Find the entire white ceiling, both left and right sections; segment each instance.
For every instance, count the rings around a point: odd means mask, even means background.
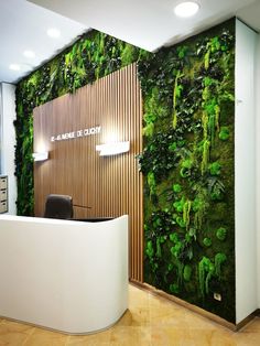
[[[260,31],[260,0],[196,0],[201,10],[191,19],[174,14],[173,8],[181,0],[29,1],[41,7],[25,0],[0,0],[0,82],[15,82],[88,28],[148,51],[176,43],[234,15]],[[61,29],[59,40],[46,36],[50,26]],[[35,51],[34,61],[22,56],[25,48]],[[22,73],[8,71],[15,62],[23,64]]]

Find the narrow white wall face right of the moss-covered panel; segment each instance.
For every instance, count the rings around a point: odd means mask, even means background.
[[[254,52],[257,34],[236,22],[235,210],[236,322],[258,307]]]

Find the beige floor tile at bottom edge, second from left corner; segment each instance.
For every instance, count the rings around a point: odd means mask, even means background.
[[[67,339],[65,334],[35,328],[22,346],[65,346]]]

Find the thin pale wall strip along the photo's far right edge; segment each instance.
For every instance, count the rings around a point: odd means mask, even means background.
[[[256,52],[256,145],[257,145],[257,271],[258,271],[258,307],[260,309],[260,34],[257,39]]]

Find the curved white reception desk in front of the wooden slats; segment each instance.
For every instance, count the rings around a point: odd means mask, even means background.
[[[69,334],[128,309],[128,216],[87,223],[0,216],[0,316]]]

